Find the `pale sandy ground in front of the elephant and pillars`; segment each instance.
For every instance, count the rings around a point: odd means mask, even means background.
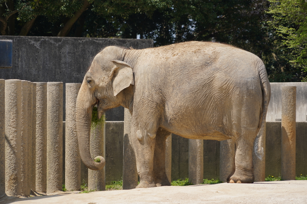
[[[307,180],[162,186],[91,193],[70,193],[32,198],[6,197],[0,203],[14,204],[139,204],[139,203],[307,203]]]

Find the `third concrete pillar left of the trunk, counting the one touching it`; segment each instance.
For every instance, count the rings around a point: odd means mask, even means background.
[[[36,83],[36,191],[47,185],[47,82]]]

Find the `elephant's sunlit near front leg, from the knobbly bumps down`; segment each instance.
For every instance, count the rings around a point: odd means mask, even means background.
[[[155,137],[147,131],[132,128],[132,145],[134,148],[136,166],[140,183],[136,188],[156,187],[153,178],[153,154]],[[154,135],[155,136],[155,135]]]

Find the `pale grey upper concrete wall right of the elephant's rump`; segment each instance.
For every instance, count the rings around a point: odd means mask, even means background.
[[[266,114],[266,121],[282,118],[282,86],[296,86],[296,121],[307,119],[307,82],[270,83],[271,100]]]

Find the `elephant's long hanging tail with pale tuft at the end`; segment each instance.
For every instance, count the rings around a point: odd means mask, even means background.
[[[263,150],[262,142],[260,141],[260,138],[263,134],[265,134],[264,130],[265,130],[265,125],[266,125],[265,124],[266,123],[266,113],[267,113],[267,109],[268,109],[270,98],[271,98],[271,85],[267,77],[266,68],[262,61],[261,63],[258,64],[258,72],[259,72],[260,84],[261,84],[261,90],[262,90],[262,112],[260,113],[260,116],[259,116],[260,120],[259,120],[258,128],[260,129],[259,129],[258,135],[255,138],[254,149],[255,149],[255,155],[260,160],[262,160],[262,157],[264,155],[264,150]]]

